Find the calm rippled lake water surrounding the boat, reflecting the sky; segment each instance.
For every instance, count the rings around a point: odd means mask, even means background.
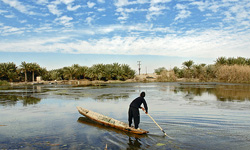
[[[0,88],[0,149],[249,150],[250,85],[126,83]],[[128,134],[96,124],[76,109],[128,122],[128,106],[146,92],[149,114]]]

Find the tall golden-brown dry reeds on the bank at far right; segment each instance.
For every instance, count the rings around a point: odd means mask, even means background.
[[[216,72],[217,79],[231,83],[250,83],[250,66],[220,66]]]

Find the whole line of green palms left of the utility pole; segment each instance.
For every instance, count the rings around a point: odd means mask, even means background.
[[[47,70],[37,63],[26,63],[17,66],[13,62],[0,63],[0,80],[9,82],[31,82],[37,76],[45,81],[53,80],[127,80],[134,78],[135,71],[127,64],[95,64],[91,67],[74,64],[60,69]]]

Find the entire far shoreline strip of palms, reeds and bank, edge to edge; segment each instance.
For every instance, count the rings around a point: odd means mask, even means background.
[[[35,80],[36,79],[36,80]],[[250,84],[250,58],[219,57],[215,64],[195,64],[155,69],[152,74],[136,75],[126,64],[96,64],[91,67],[74,64],[48,71],[37,63],[22,62],[20,66],[0,63],[0,85],[72,84],[77,86],[129,82],[222,82]]]

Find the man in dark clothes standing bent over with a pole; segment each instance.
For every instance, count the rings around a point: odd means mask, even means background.
[[[133,118],[134,118],[135,128],[137,129],[139,127],[139,123],[140,123],[139,108],[141,108],[143,111],[145,110],[146,114],[148,113],[148,106],[147,106],[147,102],[145,101],[144,97],[145,97],[145,92],[141,92],[140,96],[137,97],[136,99],[134,99],[129,105],[128,122],[129,122],[130,127],[131,127]],[[143,103],[145,109],[143,107],[141,107],[142,103]]]

